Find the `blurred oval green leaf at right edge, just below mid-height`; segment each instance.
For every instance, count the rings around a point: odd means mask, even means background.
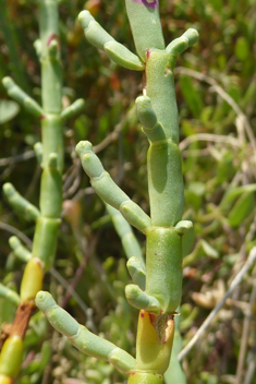
[[[231,227],[239,227],[242,221],[254,211],[254,192],[245,192],[234,204],[229,215]]]

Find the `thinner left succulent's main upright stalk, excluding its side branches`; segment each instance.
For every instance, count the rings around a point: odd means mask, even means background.
[[[0,355],[0,384],[12,383],[20,372],[23,360],[23,339],[29,319],[36,308],[35,297],[42,287],[44,274],[53,264],[62,208],[63,134],[60,118],[62,65],[57,0],[39,1],[39,29],[38,53],[41,63],[44,111],[44,115],[40,116],[42,145],[40,213],[36,218],[32,259],[28,261],[22,278],[21,302],[11,334]],[[10,85],[10,82],[8,84]],[[19,87],[14,89],[12,96],[13,98],[27,99]]]

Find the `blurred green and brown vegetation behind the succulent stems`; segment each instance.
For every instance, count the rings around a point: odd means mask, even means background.
[[[7,4],[0,0],[0,79],[13,76],[39,99],[39,63],[33,47],[38,36],[36,3],[12,0]],[[103,204],[81,170],[74,146],[80,140],[92,141],[113,179],[148,212],[147,140],[134,109],[142,79],[141,73],[110,62],[84,39],[75,21],[83,8],[133,49],[122,0],[60,3],[63,104],[83,97],[86,108],[65,127],[63,221],[56,266],[45,289],[80,323],[134,353],[137,311],[124,299],[129,283],[125,255]],[[184,249],[181,332],[185,345],[256,244],[256,3],[161,0],[160,10],[166,41],[191,26],[200,35],[199,44],[179,58],[175,74],[184,217],[194,221]],[[22,195],[38,204],[40,170],[33,145],[40,137],[39,125],[8,100],[2,85],[0,97],[0,181],[13,182]],[[33,236],[33,227],[1,199],[0,279],[19,289],[23,265],[10,254],[8,243],[14,228],[28,239]],[[144,238],[136,235],[144,247]],[[255,383],[251,374],[256,349],[255,273],[254,268],[235,289],[185,357],[188,383]],[[12,321],[13,312],[1,299],[0,323]],[[108,364],[82,356],[40,313],[33,317],[26,346],[29,352],[17,383],[108,384],[125,380]]]

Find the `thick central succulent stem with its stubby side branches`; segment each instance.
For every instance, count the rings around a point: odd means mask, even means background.
[[[76,153],[96,193],[146,236],[146,266],[137,257],[129,260],[133,284],[125,288],[127,301],[139,310],[136,358],[80,325],[56,304],[50,293],[38,292],[36,303],[74,346],[125,372],[129,384],[161,384],[170,362],[174,315],[181,301],[182,236],[192,227],[191,221],[182,220],[183,177],[173,67],[176,57],[197,41],[198,34],[190,28],[166,47],[158,0],[125,0],[125,4],[137,56],[115,41],[88,11],[81,12],[78,20],[87,40],[111,60],[145,72],[143,96],[136,99],[136,106],[149,141],[150,216],[114,183],[89,142],[78,143]]]

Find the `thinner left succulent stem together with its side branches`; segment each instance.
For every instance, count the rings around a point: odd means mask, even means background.
[[[62,65],[60,60],[59,13],[57,0],[39,0],[39,39],[35,43],[41,65],[41,106],[11,77],[3,79],[8,94],[41,123],[41,143],[35,145],[42,173],[39,209],[25,200],[11,183],[3,185],[13,209],[36,223],[32,251],[19,238],[10,238],[15,256],[26,263],[20,295],[0,285],[0,296],[17,305],[11,331],[0,353],[0,384],[11,384],[23,361],[24,337],[36,309],[35,297],[42,288],[44,275],[54,261],[62,209],[63,120],[78,112],[82,99],[62,110]]]

